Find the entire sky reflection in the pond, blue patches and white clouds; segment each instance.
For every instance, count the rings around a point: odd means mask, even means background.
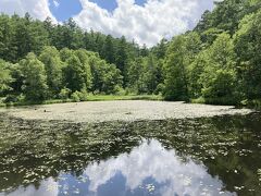
[[[45,193],[46,192],[46,193]],[[89,164],[79,177],[60,174],[58,182],[42,181],[40,187],[18,188],[12,195],[86,196],[175,196],[236,195],[223,191],[219,177],[212,177],[203,164],[183,161],[175,150],[166,150],[158,140],[144,140],[129,154]],[[1,194],[0,194],[1,195]]]

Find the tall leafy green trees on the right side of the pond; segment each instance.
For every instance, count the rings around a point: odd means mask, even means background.
[[[174,37],[165,57],[165,98],[240,103],[261,98],[261,3],[216,2],[191,33]]]

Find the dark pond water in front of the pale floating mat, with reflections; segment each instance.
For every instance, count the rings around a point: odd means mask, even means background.
[[[261,114],[72,124],[0,117],[0,196],[261,195]]]

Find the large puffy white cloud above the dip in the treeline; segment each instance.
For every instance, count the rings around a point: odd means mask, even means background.
[[[110,13],[88,0],[79,1],[83,11],[74,19],[82,27],[148,46],[194,27],[213,8],[213,0],[148,0],[144,7],[135,0],[116,0],[119,7]]]

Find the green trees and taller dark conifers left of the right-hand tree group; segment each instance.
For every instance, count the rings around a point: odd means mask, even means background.
[[[95,32],[73,20],[54,25],[17,15],[0,16],[0,96],[7,102],[87,100],[97,94],[152,94],[162,82],[166,40],[146,46]]]

